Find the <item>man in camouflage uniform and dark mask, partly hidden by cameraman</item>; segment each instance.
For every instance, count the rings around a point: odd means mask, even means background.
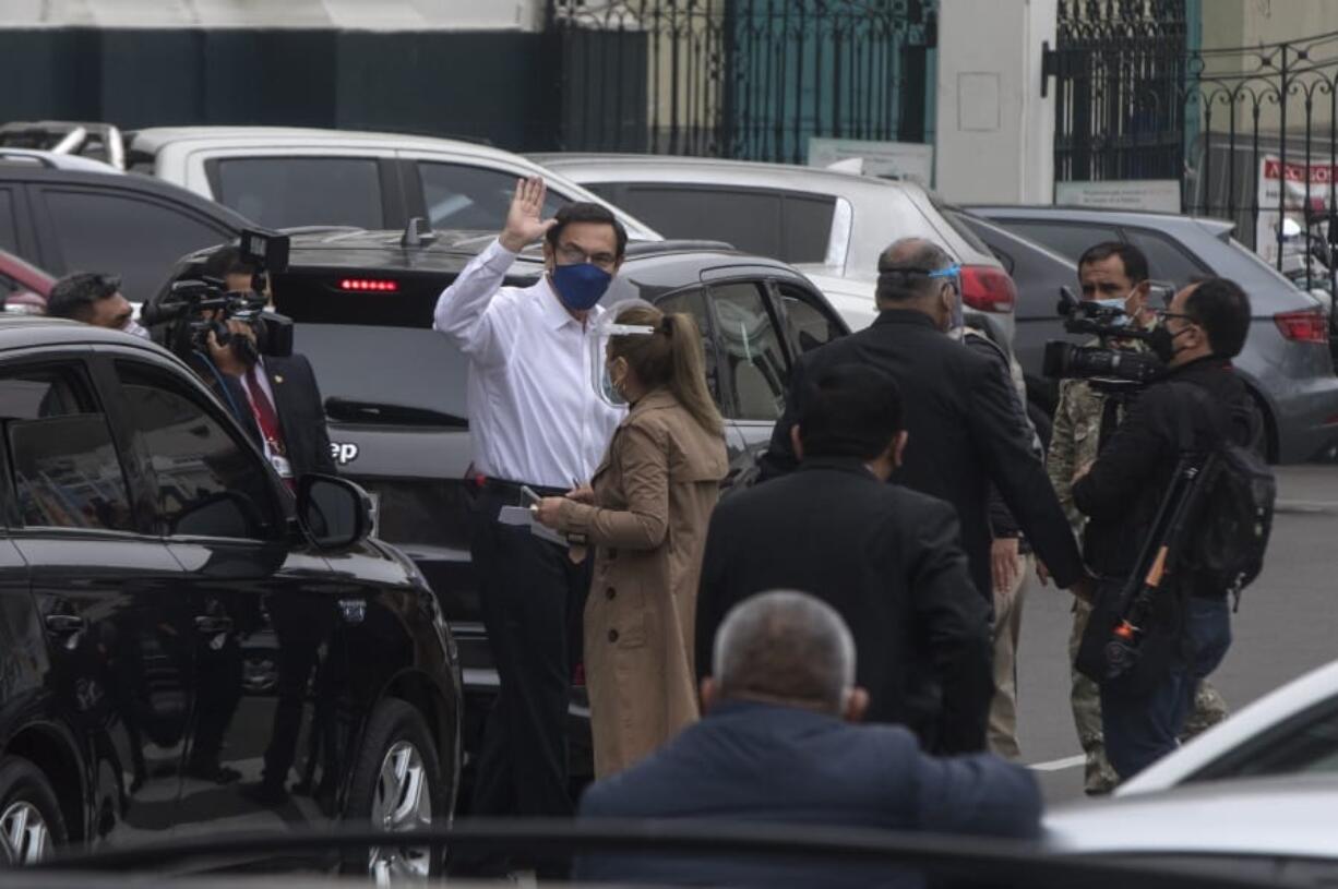
[[[1082,301],[1108,310],[1117,324],[1127,325],[1135,332],[1148,332],[1156,326],[1156,314],[1148,306],[1152,289],[1148,261],[1133,245],[1111,241],[1088,247],[1078,259],[1078,285]],[[1152,357],[1147,342],[1136,337],[1098,337],[1089,345]],[[1124,418],[1132,389],[1133,386],[1121,389],[1109,382],[1093,384],[1088,378],[1069,377],[1060,381],[1060,401],[1054,410],[1045,469],[1073,524],[1074,533],[1084,544],[1089,561],[1092,548],[1100,543],[1092,539],[1086,519],[1073,504],[1073,480],[1082,467],[1096,461],[1101,442],[1115,433]],[[1074,598],[1073,630],[1069,634],[1070,666],[1077,658],[1078,643],[1090,614],[1090,603]],[[1073,709],[1073,727],[1086,757],[1084,789],[1093,795],[1109,793],[1119,783],[1119,775],[1105,755],[1100,695],[1096,683],[1077,668],[1072,668],[1069,702]],[[1226,717],[1227,705],[1222,695],[1208,683],[1203,683],[1187,725],[1187,735],[1198,734]]]

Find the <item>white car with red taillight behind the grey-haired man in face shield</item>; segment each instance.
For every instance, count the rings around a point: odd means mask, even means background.
[[[716,158],[538,154],[530,158],[666,238],[710,238],[799,267],[851,329],[876,317],[878,254],[927,238],[962,265],[962,295],[1012,341],[1017,291],[970,229],[914,182]]]

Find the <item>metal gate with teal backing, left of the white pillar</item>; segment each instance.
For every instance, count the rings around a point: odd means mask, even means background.
[[[934,0],[549,0],[558,146],[803,163],[923,142]]]

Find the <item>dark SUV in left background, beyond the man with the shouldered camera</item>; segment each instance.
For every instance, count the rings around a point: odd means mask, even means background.
[[[131,302],[153,295],[182,254],[246,227],[234,210],[136,172],[0,155],[0,250],[56,277],[119,274]]]

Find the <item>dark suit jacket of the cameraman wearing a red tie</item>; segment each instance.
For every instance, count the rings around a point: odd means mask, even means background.
[[[325,402],[321,400],[316,373],[306,356],[293,354],[286,358],[265,356],[265,376],[274,393],[274,413],[284,430],[284,447],[293,467],[293,476],[309,472],[339,475],[334,456],[330,453],[330,437],[325,429]],[[209,377],[206,377],[207,380]],[[250,401],[241,380],[223,376],[231,404],[237,406],[238,420],[252,440],[260,445],[260,426],[250,412]]]

